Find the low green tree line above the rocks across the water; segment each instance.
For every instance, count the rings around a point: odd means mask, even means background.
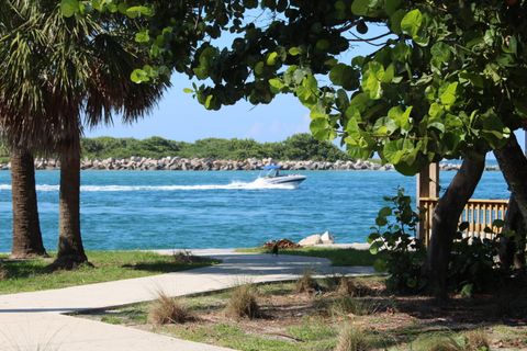
[[[98,137],[81,140],[82,157],[89,159],[128,158],[132,156],[162,158],[212,158],[243,160],[268,158],[277,160],[348,160],[349,156],[327,141],[316,140],[311,134],[295,134],[283,141],[258,143],[254,139],[205,138],[195,143],[175,141],[161,137],[146,139]]]

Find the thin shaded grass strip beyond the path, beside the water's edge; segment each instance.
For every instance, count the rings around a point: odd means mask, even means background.
[[[237,249],[238,252],[254,252],[254,253],[268,253],[266,248],[249,248]],[[295,254],[295,256],[310,256],[322,257],[329,259],[333,265],[373,265],[380,254],[371,254],[369,250],[357,249],[333,249],[333,248],[317,248],[307,247],[300,249],[287,249],[280,250],[280,254]]]

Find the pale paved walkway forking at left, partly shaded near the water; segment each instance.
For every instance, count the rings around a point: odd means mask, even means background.
[[[139,279],[0,295],[0,350],[16,351],[213,351],[227,350],[65,314],[155,299],[159,291],[182,296],[227,288],[242,282],[295,279],[305,270],[319,274],[368,274],[371,268],[334,268],[326,259],[242,254],[197,250],[221,264]]]

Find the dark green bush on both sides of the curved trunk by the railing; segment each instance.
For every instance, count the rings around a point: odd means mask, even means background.
[[[412,200],[399,189],[393,197],[385,197],[389,206],[381,208],[375,219],[373,233],[369,236],[370,252],[383,252],[374,267],[389,273],[386,287],[401,293],[416,293],[426,285],[423,276],[423,265],[426,249],[416,239],[419,216],[412,210]],[[503,226],[503,220],[495,220],[493,228]],[[464,296],[473,292],[482,292],[496,286],[503,271],[497,261],[500,235],[491,228],[493,239],[463,238],[468,223],[461,223],[452,245],[448,268],[448,287]],[[514,234],[501,234],[514,235]]]

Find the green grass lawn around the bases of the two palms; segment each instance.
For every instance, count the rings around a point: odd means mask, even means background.
[[[9,260],[3,257],[4,276],[0,280],[0,294],[139,278],[215,263],[209,259],[188,262],[178,256],[160,256],[143,251],[89,251],[87,254],[94,267],[86,265],[74,271],[55,272],[48,269],[53,258]]]

